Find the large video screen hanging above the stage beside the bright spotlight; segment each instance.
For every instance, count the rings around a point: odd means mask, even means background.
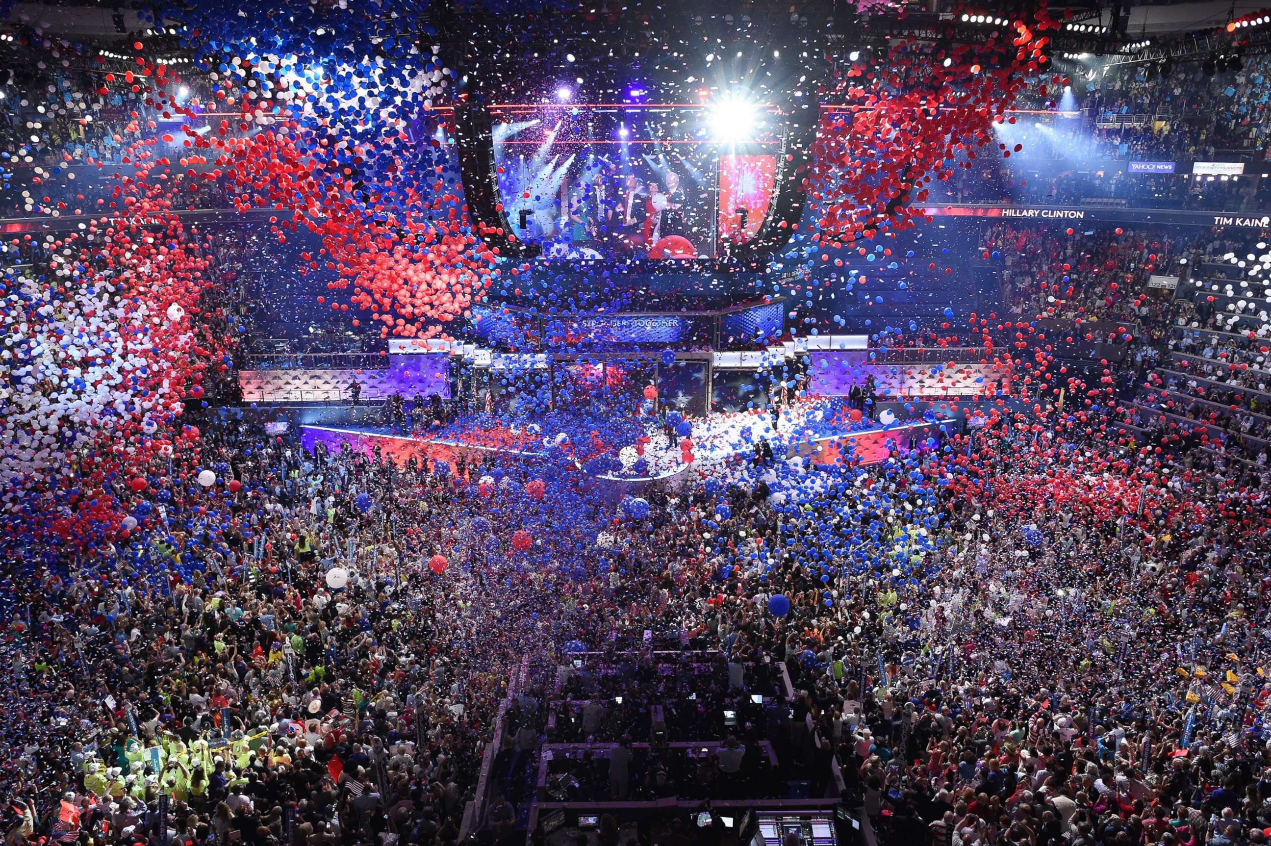
[[[548,259],[714,258],[759,231],[777,140],[718,144],[700,109],[543,105],[496,114],[494,163],[516,238]]]

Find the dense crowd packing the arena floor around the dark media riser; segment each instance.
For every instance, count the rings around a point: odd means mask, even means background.
[[[520,556],[527,467],[208,423],[235,490],[159,492],[136,506],[159,531],[9,584],[18,842],[454,842],[527,645],[651,628],[784,661],[792,723],[812,718],[887,836],[1265,824],[1266,478],[1237,492],[1191,456],[1004,417],[873,467],[747,461],[713,493],[651,495],[604,546],[613,512],[578,498]]]

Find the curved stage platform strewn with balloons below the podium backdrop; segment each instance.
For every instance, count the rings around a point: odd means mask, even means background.
[[[622,487],[641,487],[649,483],[674,481],[691,470],[709,470],[730,460],[755,455],[755,445],[766,441],[777,457],[802,457],[813,465],[833,465],[848,461],[877,464],[885,461],[891,448],[907,451],[929,440],[941,442],[947,434],[961,428],[961,422],[949,418],[896,420],[890,426],[863,420],[849,424],[825,420],[825,408],[803,404],[782,414],[773,426],[770,414],[722,413],[691,420],[694,461],[681,457],[679,436],[649,420],[644,427],[648,442],[643,455],[634,443],[614,448],[609,469],[595,473],[597,479]],[[329,450],[350,448],[380,453],[395,461],[432,459],[454,464],[460,457],[477,461],[488,455],[501,455],[522,461],[541,461],[557,447],[541,432],[530,433],[515,426],[482,426],[451,434],[430,438],[425,434],[399,434],[388,427],[330,427],[301,426],[301,442],[306,450],[325,443]],[[451,427],[451,432],[454,427]],[[594,457],[594,456],[590,456]],[[588,457],[588,459],[590,459]],[[577,459],[574,459],[577,462]],[[618,466],[620,465],[620,466]],[[585,469],[580,464],[580,469]]]

